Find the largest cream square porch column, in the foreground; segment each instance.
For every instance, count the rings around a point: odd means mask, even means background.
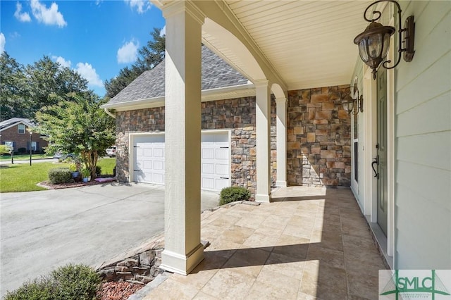
[[[201,30],[188,1],[163,6],[166,18],[165,248],[161,266],[187,275],[204,259],[200,242]]]

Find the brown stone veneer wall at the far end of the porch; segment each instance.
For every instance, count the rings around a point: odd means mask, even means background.
[[[350,186],[351,119],[340,93],[350,86],[288,92],[288,185]]]

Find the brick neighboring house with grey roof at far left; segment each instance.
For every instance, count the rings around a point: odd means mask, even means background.
[[[30,139],[29,128],[35,127],[35,125],[25,118],[11,118],[4,120],[0,123],[0,143],[12,144],[14,152],[30,153],[30,140],[31,150],[33,153],[42,153],[44,147],[49,142],[37,132],[32,132]]]

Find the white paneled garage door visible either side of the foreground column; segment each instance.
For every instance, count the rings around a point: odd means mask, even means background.
[[[134,181],[164,185],[164,135],[137,136],[133,144]],[[228,132],[203,132],[201,189],[221,191],[230,186]]]

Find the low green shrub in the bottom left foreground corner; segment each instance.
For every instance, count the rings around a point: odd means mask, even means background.
[[[100,282],[99,275],[86,265],[65,265],[50,275],[25,282],[15,291],[8,292],[5,300],[97,299]]]

